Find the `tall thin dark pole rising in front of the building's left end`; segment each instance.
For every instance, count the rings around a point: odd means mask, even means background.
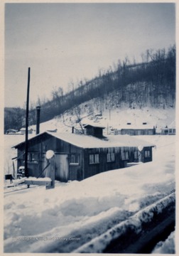
[[[29,105],[29,90],[30,90],[30,73],[31,68],[28,68],[28,85],[27,85],[27,101],[26,101],[26,142],[25,142],[25,176],[28,177],[28,105]]]

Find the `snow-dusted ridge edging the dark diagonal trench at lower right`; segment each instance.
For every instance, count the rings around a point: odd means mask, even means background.
[[[132,230],[136,235],[141,233],[144,223],[149,223],[153,220],[155,215],[163,213],[163,211],[171,204],[175,203],[175,193],[162,198],[161,200],[153,203],[151,206],[139,210],[138,213],[131,216],[128,220],[124,220],[113,228],[107,230],[106,233],[99,235],[85,245],[74,250],[74,253],[102,253],[110,243],[119,239],[122,235]]]

